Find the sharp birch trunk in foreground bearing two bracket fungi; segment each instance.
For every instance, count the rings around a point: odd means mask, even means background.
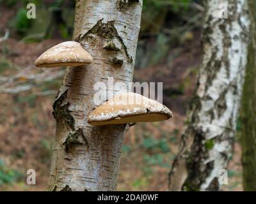
[[[128,127],[93,127],[86,120],[95,108],[95,83],[108,84],[108,77],[114,82],[132,82],[141,10],[142,0],[76,0],[73,38],[93,56],[93,63],[67,68],[56,96],[49,191],[116,189]]]

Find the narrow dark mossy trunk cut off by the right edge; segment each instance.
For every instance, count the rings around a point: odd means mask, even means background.
[[[256,1],[249,0],[252,19],[252,41],[249,47],[248,64],[242,99],[243,187],[244,191],[256,191]]]

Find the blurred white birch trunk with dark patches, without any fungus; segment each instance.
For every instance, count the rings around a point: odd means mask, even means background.
[[[204,58],[170,172],[170,191],[220,190],[219,171],[232,155],[250,19],[246,0],[225,2],[227,19],[216,15],[221,1],[205,1]]]

